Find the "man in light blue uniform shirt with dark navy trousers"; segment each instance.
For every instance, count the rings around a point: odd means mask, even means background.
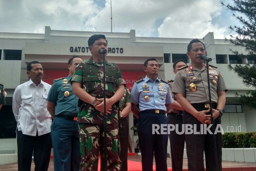
[[[167,117],[173,102],[166,81],[158,79],[159,66],[155,58],[144,62],[143,70],[147,72],[144,79],[134,83],[131,90],[132,112],[138,118],[138,137],[142,155],[142,170],[153,170],[153,157],[157,171],[167,171]],[[139,109],[137,105],[139,104]],[[152,124],[165,124],[166,134],[152,133]],[[155,128],[155,126],[154,126]],[[161,133],[161,130],[158,130]]]

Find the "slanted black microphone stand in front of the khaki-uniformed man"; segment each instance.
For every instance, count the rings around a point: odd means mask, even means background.
[[[213,118],[213,108],[212,108],[212,98],[211,98],[211,90],[210,90],[210,79],[209,79],[209,60],[206,61],[206,70],[207,70],[207,82],[208,82],[208,91],[209,91],[209,103],[210,103],[210,114],[211,114],[211,124],[213,124],[213,148],[214,148],[214,155],[215,155],[215,164],[216,164],[216,171],[219,171],[219,164],[218,164],[218,155],[217,155],[217,144],[215,139],[215,125],[214,125],[214,118]]]

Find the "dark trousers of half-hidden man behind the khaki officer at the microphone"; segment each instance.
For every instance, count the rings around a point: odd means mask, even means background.
[[[175,130],[170,131],[169,134],[171,144],[171,169],[173,171],[182,171],[185,135],[176,133],[176,129],[178,129],[179,132],[182,131],[182,115],[168,113],[168,124],[175,125]]]

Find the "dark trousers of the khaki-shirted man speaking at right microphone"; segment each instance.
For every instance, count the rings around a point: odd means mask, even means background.
[[[205,108],[196,108],[198,111],[207,110]],[[196,131],[200,132],[200,125],[202,123],[198,121],[192,114],[184,111],[183,121],[185,124],[196,124]],[[215,129],[217,124],[221,124],[221,118],[218,117],[214,120]],[[207,124],[207,127],[209,124]],[[194,126],[193,126],[194,128]],[[212,129],[211,129],[212,130]],[[213,132],[214,133],[214,132]],[[218,168],[221,170],[222,161],[222,139],[221,133],[215,134],[217,144],[217,157]],[[204,155],[207,171],[216,171],[215,154],[213,145],[213,134],[206,131],[206,134],[185,134],[186,150],[188,157],[188,170],[189,171],[204,171]]]

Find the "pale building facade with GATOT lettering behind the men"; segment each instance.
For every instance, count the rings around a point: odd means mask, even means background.
[[[0,154],[17,153],[16,121],[12,113],[12,96],[17,85],[26,82],[27,63],[39,61],[44,70],[43,81],[52,84],[53,79],[68,75],[67,62],[73,55],[88,60],[91,54],[87,41],[93,34],[104,34],[108,41],[108,62],[114,62],[120,68],[129,89],[134,82],[144,78],[143,63],[148,58],[156,58],[159,63],[159,78],[174,79],[173,62],[184,59],[187,45],[192,38],[146,38],[136,37],[135,30],[130,33],[83,32],[51,30],[45,26],[44,34],[0,33],[0,82],[8,93],[6,105],[0,110]],[[203,38],[207,56],[213,60],[210,65],[217,66],[224,76],[229,91],[226,93],[225,113],[222,116],[222,128],[225,132],[255,131],[256,110],[239,104],[234,93],[246,93],[248,87],[233,71],[227,69],[228,64],[254,64],[254,61],[240,59],[229,49],[245,53],[242,47],[228,44],[223,39],[214,39],[209,32]],[[134,124],[133,114],[129,115],[130,128]],[[133,151],[133,132],[130,131],[130,147]]]

